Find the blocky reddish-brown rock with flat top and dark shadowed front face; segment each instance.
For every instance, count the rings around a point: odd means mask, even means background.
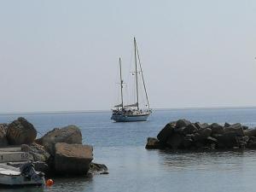
[[[60,174],[86,174],[93,160],[92,147],[82,144],[55,144],[55,172]]]

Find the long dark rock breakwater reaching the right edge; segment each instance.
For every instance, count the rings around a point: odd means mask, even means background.
[[[157,138],[148,137],[146,148],[184,151],[256,148],[256,128],[248,129],[240,123],[218,125],[179,119],[166,124]]]

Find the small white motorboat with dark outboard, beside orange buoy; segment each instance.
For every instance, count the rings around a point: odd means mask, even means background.
[[[28,165],[29,163],[23,165],[20,169],[0,164],[0,185],[10,187],[22,185],[44,185],[44,173],[35,172],[33,166],[31,166],[32,163],[30,163],[31,165]]]

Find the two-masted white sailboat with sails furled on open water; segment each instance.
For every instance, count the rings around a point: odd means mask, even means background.
[[[148,102],[148,93],[146,90],[146,85],[143,77],[143,69],[140,61],[140,57],[137,49],[137,42],[134,38],[134,55],[135,55],[135,81],[136,81],[136,98],[137,101],[135,103],[131,103],[128,105],[124,105],[124,96],[123,96],[123,84],[124,81],[122,79],[122,67],[121,67],[121,58],[119,58],[119,78],[120,78],[120,92],[121,92],[121,103],[119,105],[115,105],[112,109],[112,117],[116,122],[132,122],[132,121],[146,121],[152,110],[149,108]],[[138,75],[142,76],[143,80],[143,90],[147,99],[146,108],[141,108],[139,104],[139,91],[138,91]]]

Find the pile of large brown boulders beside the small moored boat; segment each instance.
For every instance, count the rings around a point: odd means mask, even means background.
[[[76,125],[55,128],[36,139],[35,127],[24,118],[9,125],[0,124],[0,147],[20,146],[35,169],[48,175],[88,175],[108,173],[102,164],[93,163],[93,148],[82,144],[82,133]],[[9,162],[20,166],[22,162]]]

